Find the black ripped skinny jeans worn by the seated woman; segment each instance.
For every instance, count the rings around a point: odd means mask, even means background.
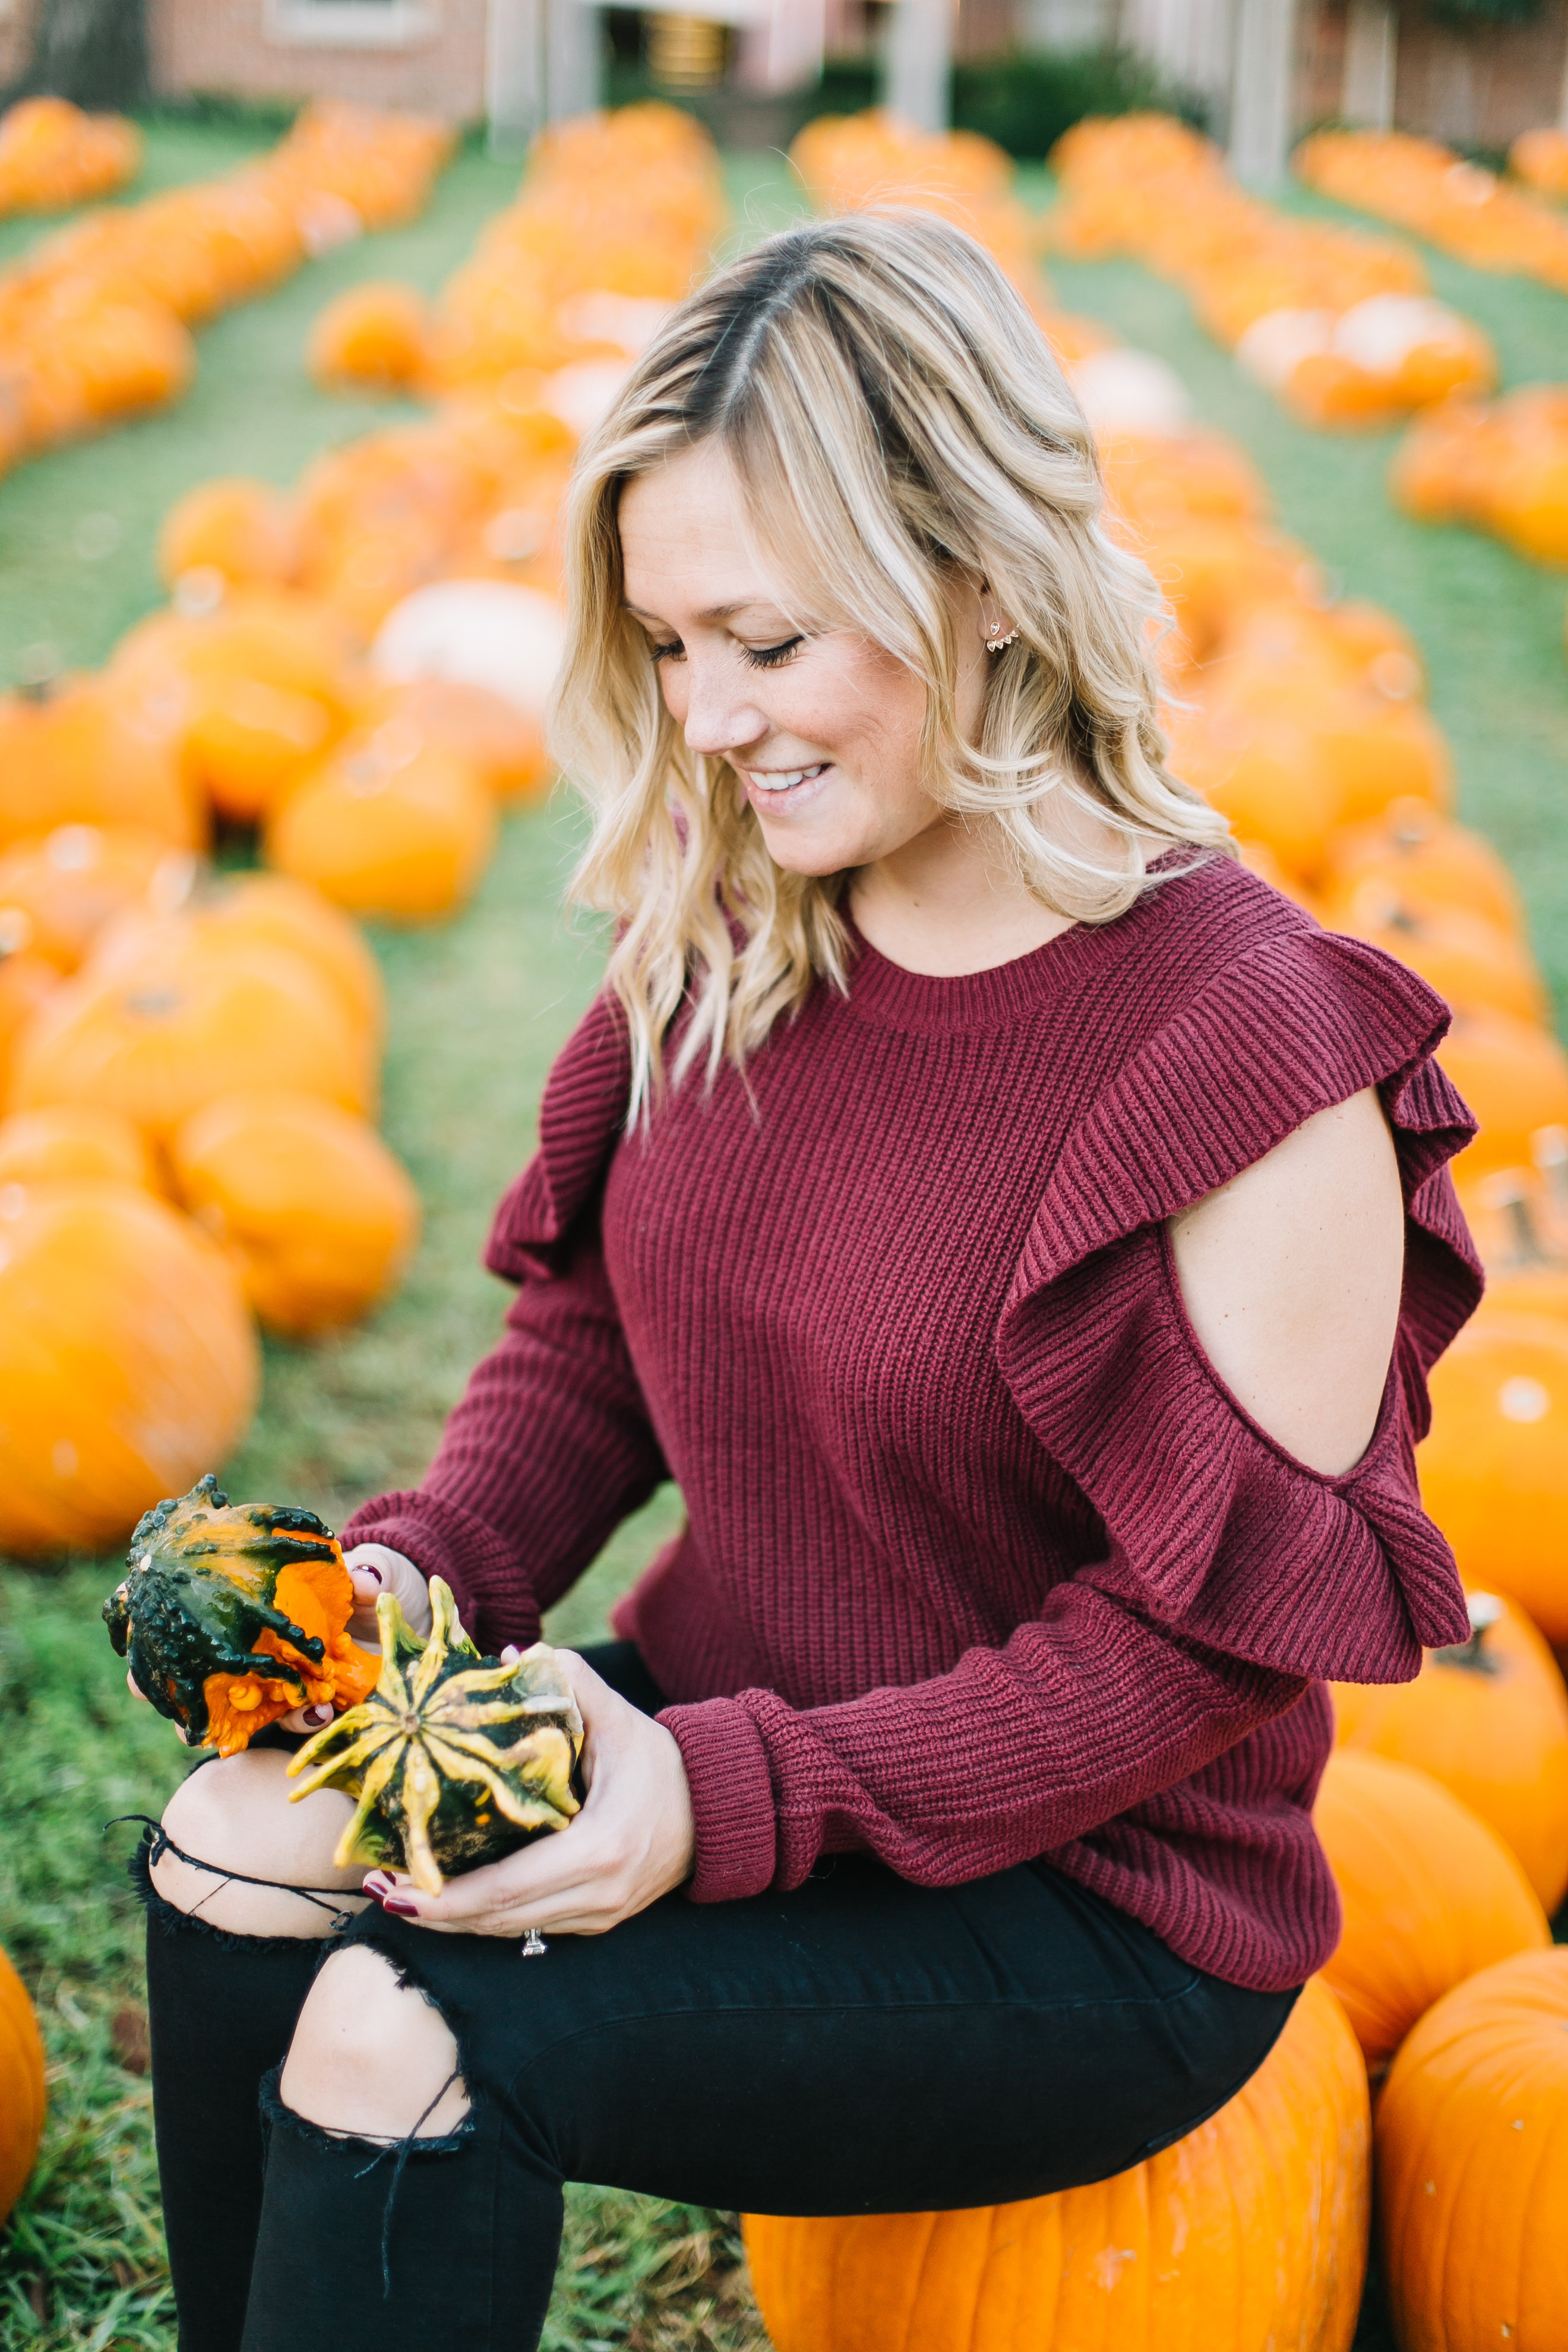
[[[658,1705],[630,1644],[588,1656]],[[451,2025],[473,2112],[449,2140],[376,2152],[277,2103],[341,1943]],[[1232,2098],[1295,1999],[1206,1976],[1046,1863],[936,1891],[858,1856],[795,1893],[665,1896],[527,1962],[376,1910],[277,1945],[153,1903],[148,1985],[181,2352],[531,2352],[564,2180],[755,2213],[1103,2180]]]

